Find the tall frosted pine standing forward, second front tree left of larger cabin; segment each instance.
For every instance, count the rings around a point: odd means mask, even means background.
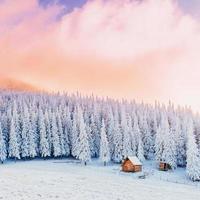
[[[76,158],[81,160],[85,165],[91,160],[91,152],[89,147],[88,135],[86,132],[86,126],[83,118],[82,109],[78,109],[78,121],[79,121],[79,138],[77,142],[77,155]]]

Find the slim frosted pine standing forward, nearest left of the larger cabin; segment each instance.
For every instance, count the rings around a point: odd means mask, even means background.
[[[104,119],[102,120],[102,126],[101,126],[100,160],[104,163],[104,166],[106,165],[107,162],[110,161],[110,150],[105,130]]]

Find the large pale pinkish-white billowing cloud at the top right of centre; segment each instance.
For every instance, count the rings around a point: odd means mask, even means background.
[[[91,1],[66,15],[59,39],[61,46],[68,44],[67,53],[133,60],[155,50],[182,48],[195,28],[196,22],[173,1]]]

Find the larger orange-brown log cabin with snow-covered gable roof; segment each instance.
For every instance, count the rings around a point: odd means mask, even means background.
[[[128,156],[122,162],[122,171],[123,172],[141,172],[142,163],[136,156]]]

